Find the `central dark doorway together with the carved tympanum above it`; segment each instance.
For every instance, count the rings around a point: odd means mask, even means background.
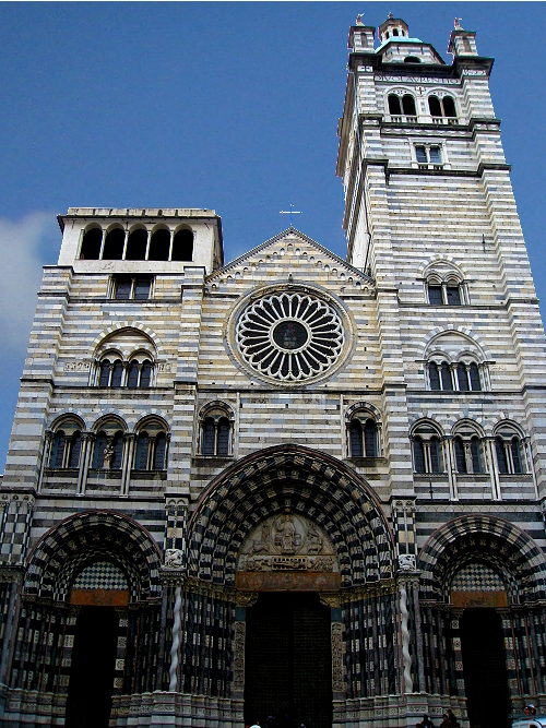
[[[329,728],[332,614],[324,595],[341,587],[329,537],[285,508],[254,528],[237,566],[236,586],[257,594],[246,610],[246,723]]]

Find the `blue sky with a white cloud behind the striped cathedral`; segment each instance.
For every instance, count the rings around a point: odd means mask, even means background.
[[[0,3],[2,464],[40,266],[57,262],[69,206],[212,207],[229,261],[287,227],[278,211],[293,202],[296,226],[345,255],[335,130],[359,12],[376,26],[403,17],[448,62],[459,15],[496,58],[492,100],[546,301],[545,3]]]

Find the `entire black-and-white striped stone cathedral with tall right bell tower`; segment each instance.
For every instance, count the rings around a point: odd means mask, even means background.
[[[290,226],[225,264],[212,210],[59,217],[0,489],[1,725],[546,711],[544,331],[492,59],[458,23],[449,51],[351,28],[346,261]]]

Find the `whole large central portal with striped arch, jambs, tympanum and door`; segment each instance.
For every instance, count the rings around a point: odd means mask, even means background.
[[[188,530],[187,613],[221,610],[233,594],[230,684],[218,669],[212,690],[244,699],[246,724],[330,728],[334,701],[352,696],[349,673],[384,694],[397,689],[393,538],[344,464],[292,445],[256,453],[211,484]],[[360,623],[377,654],[346,649]],[[193,644],[225,640],[211,628],[195,623],[186,637],[185,687],[211,684],[190,657]]]

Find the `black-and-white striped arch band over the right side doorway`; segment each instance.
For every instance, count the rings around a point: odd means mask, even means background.
[[[546,557],[525,532],[502,518],[480,514],[450,521],[419,553],[422,596],[447,601],[451,581],[472,561],[490,564],[502,577],[512,602],[546,597]]]

